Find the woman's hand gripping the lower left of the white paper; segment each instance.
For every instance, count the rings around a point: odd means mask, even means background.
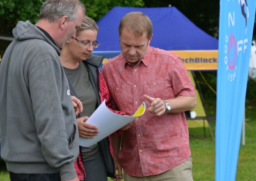
[[[83,138],[93,138],[99,133],[99,130],[95,125],[90,125],[86,123],[86,120],[88,120],[87,116],[78,118],[76,120],[78,125],[79,136]]]

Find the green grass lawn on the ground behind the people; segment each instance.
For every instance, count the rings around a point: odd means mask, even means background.
[[[253,111],[254,110],[254,111]],[[246,110],[245,145],[240,146],[237,163],[236,181],[255,180],[256,178],[256,111]],[[215,135],[215,121],[210,121]],[[204,136],[204,129],[189,129],[192,134]],[[212,141],[209,129],[206,128],[206,138],[198,139],[190,136],[190,147],[193,159],[193,178],[195,181],[215,180],[215,143]],[[0,180],[9,181],[9,175],[3,161],[0,162]],[[109,181],[111,179],[109,178]]]

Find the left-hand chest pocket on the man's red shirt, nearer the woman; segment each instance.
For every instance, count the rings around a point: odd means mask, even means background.
[[[133,105],[132,86],[127,84],[112,86],[111,93],[116,106],[120,110],[124,110],[127,106]]]

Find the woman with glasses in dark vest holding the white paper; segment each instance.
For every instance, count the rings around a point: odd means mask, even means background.
[[[77,29],[76,37],[65,43],[60,56],[70,83],[70,93],[83,103],[84,109],[79,115],[81,118],[77,118],[77,125],[79,136],[86,139],[93,138],[99,132],[96,126],[86,123],[88,117],[102,100],[106,100],[108,107],[111,104],[108,87],[99,71],[103,57],[92,54],[93,49],[100,45],[96,40],[98,31],[96,22],[90,17],[84,17],[81,27]],[[93,146],[80,146],[80,155],[74,164],[80,180],[104,181],[108,180],[108,177],[115,177],[115,164],[110,145],[107,137]]]

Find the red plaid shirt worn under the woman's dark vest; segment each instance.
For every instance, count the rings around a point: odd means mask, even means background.
[[[104,80],[104,77],[102,76],[101,72],[99,71],[100,75],[100,81],[99,81],[99,86],[100,86],[100,101],[102,102],[103,100],[106,100],[106,106],[111,107],[111,99],[110,99],[110,94],[108,91],[108,86]],[[111,109],[111,108],[109,108]],[[120,111],[114,111],[111,109],[116,114],[125,114]],[[109,136],[109,150],[111,152],[111,155],[113,156],[113,149],[112,149],[112,143],[111,143],[111,137]],[[84,177],[86,176],[86,171],[84,169],[83,161],[81,159],[81,154],[79,153],[79,156],[77,157],[76,162],[74,162],[74,167],[76,169],[77,177],[79,180],[84,180]]]

